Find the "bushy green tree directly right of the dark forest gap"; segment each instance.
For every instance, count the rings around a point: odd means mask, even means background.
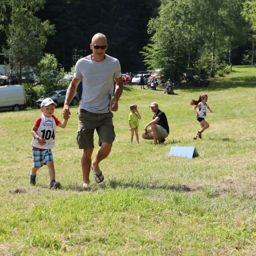
[[[188,65],[191,50],[191,29],[185,22],[186,1],[162,1],[159,16],[150,20],[151,43],[144,47],[145,63],[151,69],[161,68],[163,78],[177,80]]]

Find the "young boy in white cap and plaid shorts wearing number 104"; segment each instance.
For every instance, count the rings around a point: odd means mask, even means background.
[[[30,173],[30,184],[36,184],[36,172],[46,164],[49,169],[50,188],[60,187],[60,183],[55,181],[55,169],[53,163],[53,155],[51,149],[55,146],[56,126],[65,128],[69,117],[65,118],[62,122],[56,118],[53,113],[57,104],[50,98],[46,98],[41,102],[42,115],[38,117],[31,130],[33,139],[32,155],[33,167]]]

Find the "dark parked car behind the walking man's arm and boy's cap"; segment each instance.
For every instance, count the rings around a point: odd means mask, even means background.
[[[38,109],[40,109],[41,102],[45,98],[51,98],[55,103],[57,103],[57,105],[63,105],[65,102],[66,93],[67,93],[67,90],[58,90],[58,91],[50,92],[48,95],[45,95],[45,96],[41,97],[40,99],[38,99],[36,101],[36,106]],[[79,94],[76,92],[75,97],[71,101],[71,105],[76,105],[78,100],[79,100]]]

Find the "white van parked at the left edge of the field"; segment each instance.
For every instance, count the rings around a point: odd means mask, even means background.
[[[23,86],[0,86],[0,111],[19,111],[26,108]]]

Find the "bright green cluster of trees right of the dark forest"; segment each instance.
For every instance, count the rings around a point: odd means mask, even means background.
[[[159,16],[148,24],[153,36],[144,47],[146,65],[162,68],[164,78],[177,79],[190,67],[213,77],[223,61],[231,62],[232,49],[245,42],[243,2],[162,0]]]

